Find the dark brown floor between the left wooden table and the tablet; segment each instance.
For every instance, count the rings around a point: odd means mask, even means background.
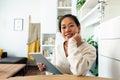
[[[37,66],[28,66],[27,71],[24,76],[30,75],[43,75],[43,72],[40,72]]]

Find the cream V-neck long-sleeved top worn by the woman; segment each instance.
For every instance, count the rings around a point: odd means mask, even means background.
[[[96,49],[87,42],[77,47],[74,38],[68,42],[68,57],[65,55],[64,42],[56,45],[52,63],[63,73],[85,75],[96,59]]]

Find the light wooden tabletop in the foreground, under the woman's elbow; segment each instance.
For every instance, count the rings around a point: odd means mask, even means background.
[[[73,76],[73,75],[36,75],[24,77],[10,77],[0,80],[113,80],[110,78],[90,77],[90,76]]]

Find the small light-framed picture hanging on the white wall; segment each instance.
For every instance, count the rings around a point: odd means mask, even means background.
[[[14,30],[22,31],[23,30],[23,19],[14,19]]]

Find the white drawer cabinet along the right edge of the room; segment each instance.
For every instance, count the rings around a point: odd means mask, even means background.
[[[109,29],[109,30],[108,30]],[[120,76],[120,16],[100,25],[99,34],[99,77]]]

